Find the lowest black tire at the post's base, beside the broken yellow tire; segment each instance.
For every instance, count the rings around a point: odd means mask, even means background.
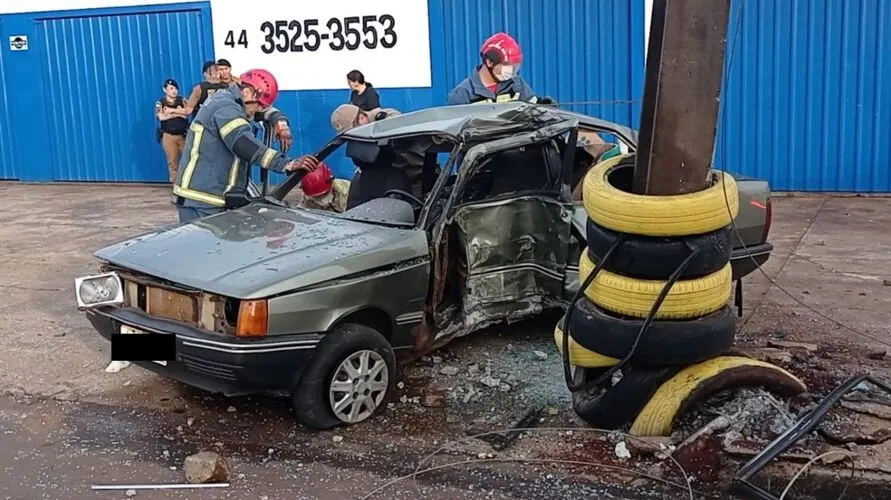
[[[631,424],[637,414],[665,381],[677,375],[683,366],[622,367],[622,379],[616,385],[591,392],[576,391],[572,394],[572,409],[582,420],[597,429],[616,430]],[[576,368],[573,383],[578,385],[600,376],[600,368]]]

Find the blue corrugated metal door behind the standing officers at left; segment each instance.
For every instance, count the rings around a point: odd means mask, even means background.
[[[209,22],[199,9],[38,21],[55,180],[167,181],[154,104],[166,78],[182,94],[197,83]]]

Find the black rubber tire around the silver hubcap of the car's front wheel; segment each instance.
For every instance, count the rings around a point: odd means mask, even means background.
[[[396,383],[396,356],[393,348],[387,339],[374,329],[364,325],[344,323],[334,327],[319,342],[312,360],[291,392],[291,404],[298,423],[310,429],[330,429],[349,423],[335,415],[329,393],[341,363],[361,351],[377,353],[385,364],[387,374],[386,390],[380,403],[362,421],[373,418],[387,406],[387,400],[393,394]]]

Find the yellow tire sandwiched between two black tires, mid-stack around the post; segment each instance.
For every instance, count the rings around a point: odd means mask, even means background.
[[[579,259],[579,281],[594,270],[587,249]],[[656,312],[656,319],[690,319],[709,315],[727,304],[733,288],[733,270],[728,263],[720,271],[702,278],[676,281]],[[628,278],[601,269],[585,289],[585,296],[615,314],[646,318],[665,287],[665,281]]]

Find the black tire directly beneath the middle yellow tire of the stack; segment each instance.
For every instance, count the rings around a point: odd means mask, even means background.
[[[604,311],[582,297],[573,306],[569,332],[585,349],[624,359],[644,321],[625,319]],[[718,356],[733,347],[736,314],[725,306],[696,319],[653,321],[644,332],[631,362],[648,365],[686,365]]]

